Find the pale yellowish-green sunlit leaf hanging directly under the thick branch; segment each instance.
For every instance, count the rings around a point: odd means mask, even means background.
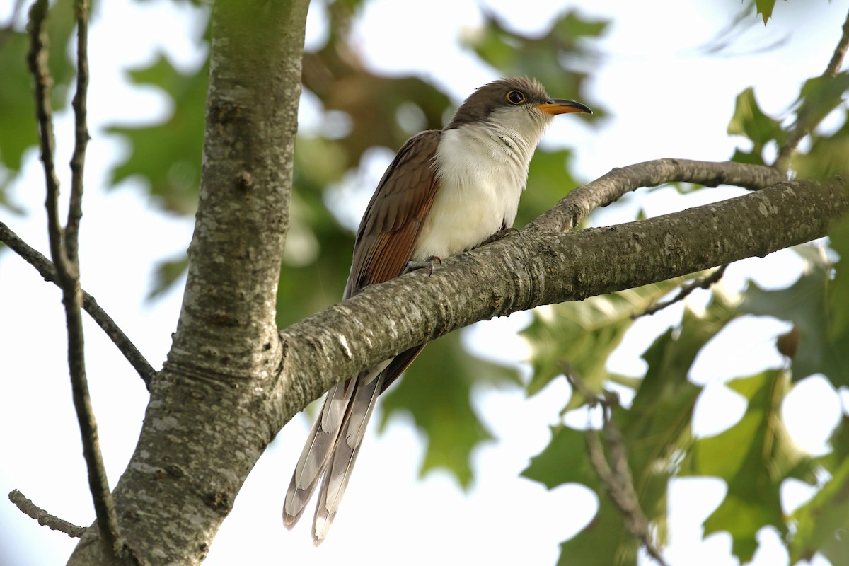
[[[562,375],[564,361],[588,387],[600,392],[610,378],[604,364],[631,327],[632,315],[645,311],[681,281],[655,283],[534,311],[533,322],[521,332],[532,351],[533,376],[527,386],[528,395],[537,394]],[[581,406],[584,401],[582,395],[574,393],[565,410]]]

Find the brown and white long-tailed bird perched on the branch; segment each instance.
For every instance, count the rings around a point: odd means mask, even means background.
[[[472,92],[442,130],[409,138],[363,214],[343,299],[513,230],[537,143],[554,116],[567,113],[593,111],[574,100],[550,98],[534,79],[503,78]],[[312,538],[318,545],[327,536],[378,396],[422,348],[414,346],[329,390],[286,492],[288,529],[323,478]]]

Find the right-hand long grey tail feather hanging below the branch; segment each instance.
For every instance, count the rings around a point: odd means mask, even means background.
[[[362,446],[368,419],[383,389],[384,378],[384,374],[380,373],[370,382],[359,384],[351,401],[351,410],[342,430],[342,438],[336,443],[327,475],[318,492],[318,507],[312,524],[312,537],[317,545],[327,535],[330,524],[333,523],[336,512],[339,511],[342,495],[345,493],[348,480],[351,479],[351,470]]]

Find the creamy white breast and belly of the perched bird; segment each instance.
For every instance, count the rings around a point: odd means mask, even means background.
[[[450,257],[511,227],[540,131],[464,125],[442,132],[435,165],[440,188],[413,249],[413,261]]]

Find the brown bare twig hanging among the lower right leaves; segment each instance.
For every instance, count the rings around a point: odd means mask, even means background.
[[[649,553],[651,558],[654,558],[661,566],[666,566],[666,561],[661,555],[660,549],[655,545],[654,538],[649,530],[649,519],[646,518],[643,509],[639,506],[639,498],[637,496],[637,490],[634,489],[631,468],[628,467],[625,442],[622,440],[622,435],[613,422],[613,409],[619,405],[618,397],[614,393],[596,395],[583,383],[582,378],[577,375],[569,364],[564,363],[563,367],[566,379],[572,387],[586,397],[590,401],[591,406],[601,406],[602,430],[604,431],[604,440],[612,466],[608,462],[608,456],[604,454],[604,446],[602,446],[601,440],[599,440],[598,433],[588,428],[587,451],[595,473],[604,484],[604,489],[607,490],[610,499],[616,504],[616,507],[619,508],[619,511],[625,518],[625,525],[628,532],[643,543],[646,552]]]

